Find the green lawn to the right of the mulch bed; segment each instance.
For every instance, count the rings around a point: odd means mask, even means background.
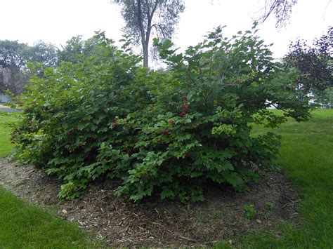
[[[301,224],[255,231],[240,239],[242,248],[333,248],[333,109],[316,110],[307,122],[290,120],[275,133],[282,135],[278,163],[301,197]]]

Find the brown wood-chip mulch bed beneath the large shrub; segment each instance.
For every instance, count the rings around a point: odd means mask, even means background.
[[[57,210],[63,219],[77,222],[116,247],[209,246],[254,229],[274,231],[283,220],[298,220],[294,206],[299,199],[285,177],[281,173],[261,175],[263,180],[250,184],[247,193],[220,187],[208,190],[202,203],[185,206],[152,197],[137,205],[115,197],[119,182],[113,181],[91,186],[74,201],[63,201],[57,197],[60,182],[55,178],[33,166],[0,161],[0,186],[31,203]],[[274,203],[273,210],[266,208],[266,202]],[[244,217],[246,204],[255,206],[253,220]]]

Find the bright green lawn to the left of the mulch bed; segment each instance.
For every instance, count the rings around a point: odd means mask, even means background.
[[[8,126],[15,118],[0,113],[0,156],[11,152]],[[65,222],[0,187],[0,248],[99,248],[76,224]]]

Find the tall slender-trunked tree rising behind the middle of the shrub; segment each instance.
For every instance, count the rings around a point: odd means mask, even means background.
[[[114,0],[122,7],[126,25],[124,32],[141,43],[143,66],[148,67],[150,37],[170,39],[179,14],[184,10],[183,0]]]

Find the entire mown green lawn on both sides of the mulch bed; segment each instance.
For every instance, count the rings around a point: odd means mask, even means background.
[[[0,155],[10,152],[0,115]],[[255,133],[267,131],[256,127]],[[301,224],[288,222],[275,232],[254,231],[235,241],[242,248],[333,248],[333,110],[317,110],[303,123],[290,120],[282,135],[279,164],[301,197]],[[0,248],[93,247],[74,224],[54,218],[0,189]],[[278,236],[277,236],[278,235]],[[221,243],[220,248],[229,245]]]

